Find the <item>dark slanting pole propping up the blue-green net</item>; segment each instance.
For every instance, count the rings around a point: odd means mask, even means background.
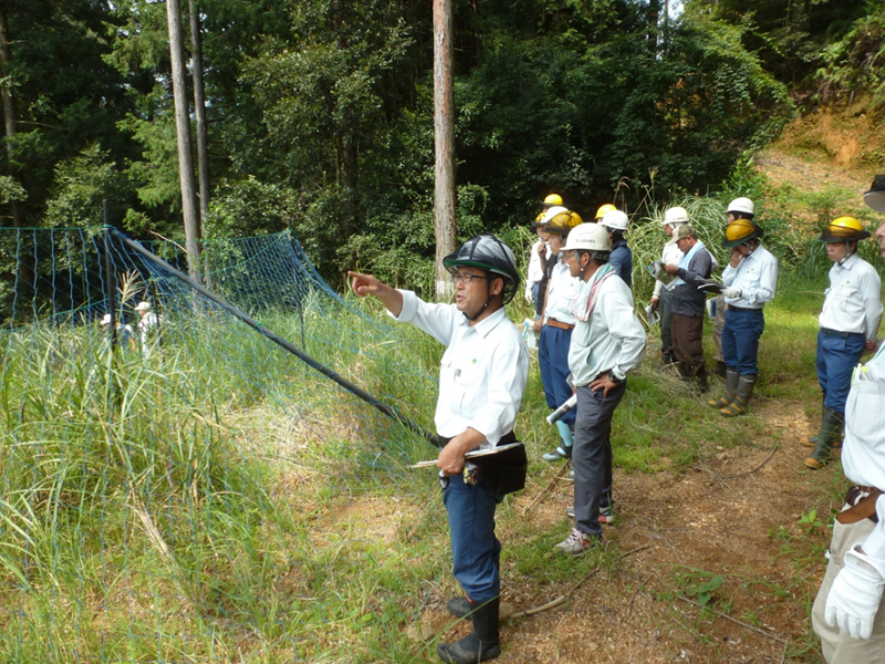
[[[242,321],[243,323],[246,323],[250,328],[254,329],[259,333],[263,334],[266,338],[268,338],[270,341],[272,341],[273,343],[275,343],[277,345],[279,345],[283,350],[285,350],[289,353],[292,353],[293,355],[295,355],[299,360],[304,362],[311,369],[314,369],[315,371],[320,372],[321,374],[323,374],[329,380],[337,383],[341,387],[343,387],[344,390],[346,390],[347,392],[350,392],[354,396],[360,397],[361,400],[363,400],[364,402],[366,402],[368,405],[373,406],[374,408],[381,411],[384,415],[386,415],[391,419],[395,419],[396,422],[400,423],[406,428],[408,428],[412,432],[423,436],[431,445],[435,445],[436,447],[439,447],[439,437],[436,434],[433,434],[433,433],[428,432],[427,429],[425,429],[424,427],[421,427],[417,423],[413,422],[408,417],[405,417],[405,416],[400,415],[399,413],[394,411],[391,406],[388,406],[384,402],[378,401],[377,398],[372,396],[368,392],[366,392],[362,387],[358,387],[357,385],[355,385],[355,384],[351,383],[350,381],[347,381],[346,378],[344,378],[342,375],[340,375],[332,367],[326,366],[322,362],[319,362],[319,361],[314,360],[313,357],[311,357],[310,355],[304,353],[304,351],[299,349],[296,345],[290,343],[289,341],[287,341],[282,336],[275,334],[274,332],[271,332],[270,330],[263,328],[260,323],[258,323],[257,321],[252,320],[244,311],[242,311],[240,309],[237,309],[232,304],[229,304],[222,298],[220,298],[219,295],[215,294],[214,292],[211,292],[210,290],[208,290],[207,288],[205,288],[200,283],[198,283],[195,279],[191,279],[190,277],[188,277],[187,274],[185,274],[180,270],[177,270],[176,268],[170,266],[168,262],[166,262],[162,258],[158,258],[157,256],[155,256],[154,253],[152,253],[150,251],[145,249],[139,242],[136,242],[135,240],[133,240],[131,238],[127,238],[125,235],[123,235],[122,232],[119,232],[118,230],[116,230],[114,228],[110,229],[110,231],[115,237],[117,237],[119,239],[119,241],[122,241],[124,245],[126,245],[132,250],[137,252],[139,256],[143,256],[147,260],[160,266],[164,270],[168,271],[169,273],[174,274],[175,277],[177,277],[178,279],[180,279],[181,281],[187,283],[191,289],[194,289],[195,291],[200,293],[202,297],[207,298],[208,300],[211,300],[212,302],[215,302],[216,304],[221,307],[225,311],[227,311],[228,313],[230,313],[235,318],[239,319],[240,321]]]

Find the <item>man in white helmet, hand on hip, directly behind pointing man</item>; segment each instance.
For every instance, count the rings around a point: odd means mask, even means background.
[[[579,556],[602,539],[600,508],[612,506],[612,418],[627,374],[645,355],[645,331],[633,294],[608,264],[612,242],[598,224],[582,224],[563,248],[572,277],[581,280],[569,369],[577,393],[574,425],[574,527],[555,546]]]

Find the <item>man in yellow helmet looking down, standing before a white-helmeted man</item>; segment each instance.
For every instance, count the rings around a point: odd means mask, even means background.
[[[759,375],[759,338],[766,329],[762,307],[774,299],[778,284],[778,260],[759,241],[761,237],[756,221],[738,219],[726,227],[722,240],[722,247],[731,249],[731,260],[722,272],[722,295],[728,304],[722,328],[726,395],[707,403],[725,417],[749,411]]]

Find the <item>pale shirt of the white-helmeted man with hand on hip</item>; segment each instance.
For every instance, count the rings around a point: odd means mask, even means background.
[[[586,298],[592,282],[581,282],[579,301]],[[633,310],[633,293],[620,277],[610,277],[600,284],[590,320],[579,320],[572,331],[572,381],[589,385],[604,371],[623,380],[644,356],[645,330]]]

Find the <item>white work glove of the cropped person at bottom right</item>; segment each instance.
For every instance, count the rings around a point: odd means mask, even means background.
[[[854,639],[870,639],[885,580],[876,567],[854,544],[845,553],[845,567],[836,575],[826,596],[824,619],[831,627],[839,625]]]

